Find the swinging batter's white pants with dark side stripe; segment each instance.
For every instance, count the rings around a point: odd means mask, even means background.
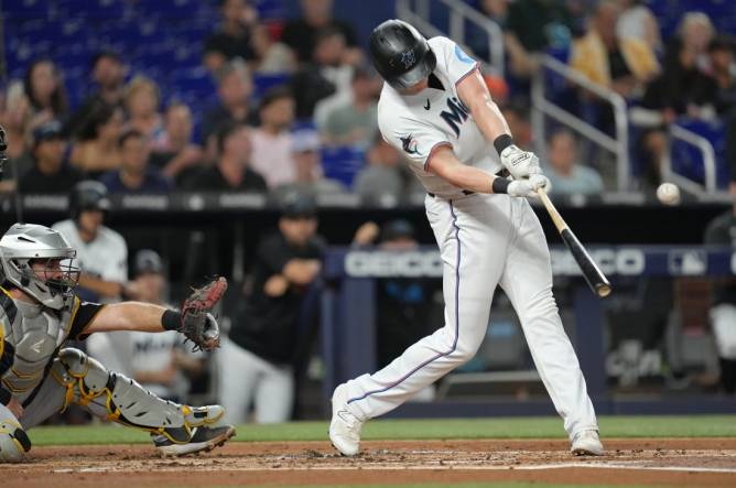
[[[389,412],[473,358],[500,284],[570,437],[597,429],[585,379],[552,296],[544,234],[526,198],[473,194],[447,200],[427,195],[425,207],[444,263],[445,326],[380,371],[348,381],[351,412],[362,420]]]

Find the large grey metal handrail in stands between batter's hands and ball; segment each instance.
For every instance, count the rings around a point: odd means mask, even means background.
[[[548,71],[562,76],[566,83],[583,88],[607,101],[614,110],[615,135],[611,137],[603,132],[597,127],[549,100],[545,97],[545,77]],[[630,189],[628,109],[624,97],[616,91],[591,82],[587,77],[554,57],[541,55],[540,67],[532,79],[531,99],[531,122],[537,144],[541,145],[544,143],[544,116],[550,117],[576,131],[594,144],[611,152],[616,158],[616,189],[619,192]],[[543,154],[544,148],[538,147],[538,152]]]

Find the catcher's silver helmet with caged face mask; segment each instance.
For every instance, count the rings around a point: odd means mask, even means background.
[[[6,282],[55,310],[72,303],[79,281],[76,253],[56,230],[35,224],[14,224],[0,239]]]

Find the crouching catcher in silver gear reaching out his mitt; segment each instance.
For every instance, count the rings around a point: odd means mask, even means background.
[[[232,437],[235,429],[219,424],[221,406],[164,401],[82,350],[64,348],[69,338],[98,332],[178,330],[210,350],[219,345],[219,328],[208,312],[225,293],[225,279],[195,290],[181,312],[137,302],[99,305],[74,294],[75,256],[44,226],[15,224],[0,239],[0,460],[22,459],[31,448],[25,432],[71,403],[150,432],[162,455],[209,451]]]

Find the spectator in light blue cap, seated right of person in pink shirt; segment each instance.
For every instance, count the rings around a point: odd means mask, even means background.
[[[293,192],[300,192],[315,198],[317,195],[346,192],[340,182],[324,176],[321,145],[320,134],[314,130],[304,129],[292,134],[291,151],[296,177],[294,182],[275,188],[277,198],[281,199]]]

